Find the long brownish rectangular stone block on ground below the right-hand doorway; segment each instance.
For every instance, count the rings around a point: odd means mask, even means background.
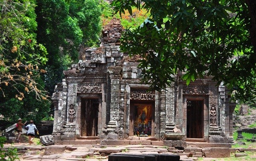
[[[226,158],[230,157],[230,148],[204,148],[203,155],[206,158]]]

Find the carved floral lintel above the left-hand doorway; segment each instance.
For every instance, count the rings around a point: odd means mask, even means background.
[[[102,93],[101,84],[78,84],[77,92],[79,93]]]

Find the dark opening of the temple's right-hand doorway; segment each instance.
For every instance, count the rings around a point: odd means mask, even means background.
[[[204,138],[204,101],[187,100],[187,138]]]

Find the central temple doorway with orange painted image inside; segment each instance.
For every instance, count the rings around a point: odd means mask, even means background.
[[[152,127],[154,127],[154,104],[131,103],[129,136],[154,137]]]

